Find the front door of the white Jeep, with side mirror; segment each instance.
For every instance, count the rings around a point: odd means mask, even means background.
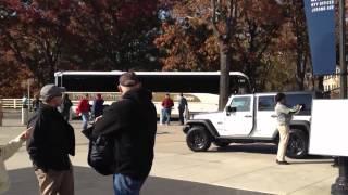
[[[224,135],[248,135],[253,127],[253,95],[235,96],[228,106],[234,110],[225,110]]]

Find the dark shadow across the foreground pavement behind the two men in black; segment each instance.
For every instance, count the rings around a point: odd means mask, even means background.
[[[9,171],[11,188],[9,195],[35,195],[37,181],[33,168]],[[112,177],[102,177],[92,169],[74,167],[76,195],[111,195]],[[179,180],[150,177],[145,183],[141,195],[259,195],[261,193],[220,187]]]

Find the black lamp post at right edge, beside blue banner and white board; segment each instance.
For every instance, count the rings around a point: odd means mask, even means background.
[[[339,0],[339,65],[340,98],[347,99],[347,64],[346,64],[346,0]],[[339,174],[331,187],[334,195],[348,194],[348,158],[338,158]]]

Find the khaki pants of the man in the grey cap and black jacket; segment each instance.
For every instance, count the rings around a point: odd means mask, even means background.
[[[39,182],[40,195],[74,195],[73,169],[64,171],[49,169],[47,172],[37,169],[35,174]]]

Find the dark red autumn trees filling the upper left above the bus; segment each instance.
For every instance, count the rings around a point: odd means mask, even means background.
[[[2,0],[0,50],[40,86],[57,70],[156,69],[156,0]]]

